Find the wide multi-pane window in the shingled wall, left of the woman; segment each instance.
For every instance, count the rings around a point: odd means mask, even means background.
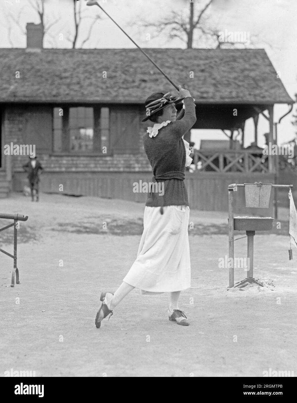
[[[102,153],[106,147],[109,153],[109,108],[54,108],[53,117],[54,152],[106,155]]]

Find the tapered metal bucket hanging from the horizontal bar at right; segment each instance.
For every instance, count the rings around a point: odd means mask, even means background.
[[[269,208],[271,183],[245,183],[245,207]]]

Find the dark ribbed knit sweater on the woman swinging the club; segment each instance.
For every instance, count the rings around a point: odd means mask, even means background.
[[[164,195],[149,193],[146,206],[189,206],[185,179],[186,150],[182,136],[196,121],[193,98],[185,98],[185,109],[175,122],[159,129],[156,137],[143,135],[144,150],[153,169],[153,182],[164,183]]]

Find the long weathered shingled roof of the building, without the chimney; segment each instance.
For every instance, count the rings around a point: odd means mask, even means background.
[[[145,50],[197,104],[294,102],[264,49]],[[173,89],[138,49],[0,49],[0,65],[0,102],[143,104]]]

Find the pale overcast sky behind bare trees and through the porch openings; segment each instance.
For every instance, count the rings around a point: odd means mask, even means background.
[[[82,1],[82,0],[80,0]],[[34,0],[35,2],[35,0]],[[200,8],[206,1],[194,0],[195,8]],[[58,24],[54,25],[50,33],[54,39],[45,39],[46,48],[71,48],[67,36],[73,35],[73,6],[72,0],[44,0],[48,23],[60,17]],[[96,7],[87,7],[82,1],[85,15],[93,17],[98,14],[104,20],[93,27],[91,39],[85,44],[85,48],[133,48],[129,39],[110,21],[103,16],[101,10]],[[184,13],[189,8],[189,0],[100,0],[100,4],[106,11],[135,39],[142,47],[147,48],[185,48],[185,44],[179,39],[168,41],[165,34],[154,37],[154,29],[143,29],[137,26],[140,19],[158,21],[171,10]],[[0,47],[9,48],[7,13],[12,12],[15,17],[22,9],[20,23],[25,29],[28,22],[38,23],[38,15],[30,6],[29,0],[0,0]],[[247,31],[254,38],[255,48],[264,48],[272,61],[276,71],[285,85],[291,98],[295,99],[297,92],[297,1],[296,0],[214,0],[206,15],[208,25],[220,31]],[[92,20],[85,19],[79,32],[78,45],[80,46],[89,30]],[[135,23],[135,25],[131,25]],[[63,39],[59,40],[59,34],[63,33]],[[151,39],[146,40],[147,33]],[[13,25],[11,40],[15,48],[26,47],[26,37],[21,29]],[[194,38],[193,47],[206,47],[206,44],[198,35]],[[0,61],[1,63],[1,61]],[[189,88],[191,90],[191,88]],[[287,105],[274,107],[274,121],[287,112]],[[294,106],[293,111],[296,110]],[[286,116],[278,129],[278,138],[287,141],[295,137],[295,130],[291,125],[292,114]],[[262,134],[268,131],[268,123],[260,116],[259,119],[259,145],[264,144]],[[246,143],[253,141],[253,122],[249,119],[245,125]],[[199,145],[201,138],[224,139],[220,131],[194,131],[193,141]]]

